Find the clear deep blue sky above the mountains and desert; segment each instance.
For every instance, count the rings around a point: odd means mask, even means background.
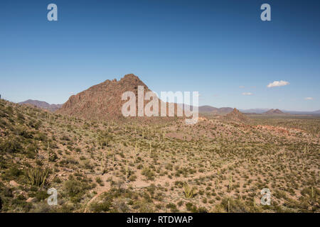
[[[263,3],[272,21],[260,20]],[[317,110],[319,11],[320,1],[1,0],[0,94],[61,104],[134,73],[155,92],[198,91],[201,105]]]

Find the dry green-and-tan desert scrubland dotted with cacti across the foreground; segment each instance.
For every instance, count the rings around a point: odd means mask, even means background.
[[[115,123],[4,100],[0,117],[2,212],[319,212],[320,118]]]

